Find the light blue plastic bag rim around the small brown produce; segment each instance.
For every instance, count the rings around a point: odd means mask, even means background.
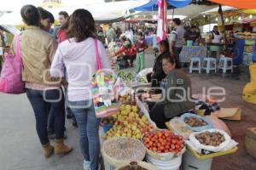
[[[186,118],[189,118],[189,117],[195,117],[195,118],[198,118],[198,119],[202,119],[204,122],[207,122],[207,126],[202,126],[202,127],[191,127],[189,126],[187,123],[185,123],[185,119]],[[192,113],[185,113],[183,114],[182,116],[180,116],[180,119],[185,123],[187,124],[187,126],[193,131],[193,132],[201,132],[203,130],[207,130],[209,128],[212,128],[212,125],[211,125],[211,122],[209,122],[205,117],[203,116],[198,116],[198,115],[195,115],[195,114],[192,114]]]

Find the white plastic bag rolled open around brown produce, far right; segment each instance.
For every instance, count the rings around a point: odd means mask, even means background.
[[[199,133],[204,133],[204,132],[210,132],[210,133],[221,133],[224,135],[224,142],[219,144],[218,146],[212,146],[212,145],[206,145],[206,144],[201,144],[196,138],[195,135]],[[195,150],[196,152],[200,154],[208,154],[211,152],[219,152],[219,151],[224,151],[224,150],[230,150],[233,147],[237,145],[236,141],[230,138],[230,135],[228,133],[225,133],[222,130],[219,130],[217,128],[212,128],[212,129],[207,129],[202,132],[197,132],[197,133],[191,133],[189,136],[189,141],[186,141],[186,144],[189,144],[189,146]]]

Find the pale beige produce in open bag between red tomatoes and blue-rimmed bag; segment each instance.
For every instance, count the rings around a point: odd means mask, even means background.
[[[166,122],[166,126],[173,132],[183,136],[183,139],[189,139],[192,133],[188,125],[182,122],[179,117],[174,117],[170,122]]]

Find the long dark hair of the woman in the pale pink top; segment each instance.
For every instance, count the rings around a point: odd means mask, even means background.
[[[69,20],[67,37],[75,38],[76,42],[82,42],[88,37],[96,37],[96,25],[90,12],[79,8],[73,12]]]

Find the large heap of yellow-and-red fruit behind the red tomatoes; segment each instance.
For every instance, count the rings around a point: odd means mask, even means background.
[[[113,115],[113,127],[105,134],[104,139],[116,137],[129,137],[141,139],[144,133],[154,129],[148,122],[148,117],[139,114],[137,105],[121,105],[119,112]]]

